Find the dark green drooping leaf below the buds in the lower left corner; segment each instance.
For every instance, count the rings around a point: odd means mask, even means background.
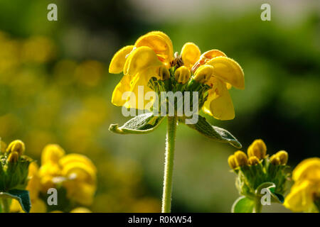
[[[23,211],[27,213],[31,209],[30,195],[27,190],[12,189],[9,192],[0,192],[0,197],[18,200]]]

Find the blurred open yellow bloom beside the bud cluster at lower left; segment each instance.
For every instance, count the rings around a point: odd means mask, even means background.
[[[84,155],[69,154],[59,145],[47,145],[41,155],[39,170],[41,191],[50,187],[62,186],[69,199],[83,205],[90,205],[96,190],[97,170]]]

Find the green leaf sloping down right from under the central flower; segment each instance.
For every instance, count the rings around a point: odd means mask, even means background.
[[[184,119],[183,119],[184,120]],[[184,123],[184,121],[182,121]],[[216,126],[211,126],[206,118],[198,115],[198,122],[195,124],[186,124],[186,126],[195,129],[199,133],[205,135],[208,138],[211,138],[215,141],[222,143],[230,143],[235,148],[242,148],[241,143],[228,131],[223,128]]]

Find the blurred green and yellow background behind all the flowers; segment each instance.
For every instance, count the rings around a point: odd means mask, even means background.
[[[58,5],[58,21],[47,20],[50,3]],[[272,21],[261,21],[262,3],[271,5]],[[114,52],[159,30],[175,51],[191,41],[240,63],[246,88],[230,91],[235,119],[206,118],[244,150],[262,138],[269,154],[287,150],[292,167],[319,157],[319,3],[1,0],[0,137],[23,140],[37,160],[48,143],[90,157],[98,170],[92,211],[160,211],[166,123],[147,135],[108,131],[128,119],[110,101],[121,75],[107,72]],[[172,210],[229,212],[238,198],[227,162],[233,152],[179,126]]]

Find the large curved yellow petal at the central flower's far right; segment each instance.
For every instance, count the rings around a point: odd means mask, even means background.
[[[214,76],[223,82],[228,82],[233,87],[245,89],[245,77],[240,65],[229,57],[214,57],[206,64],[212,65]]]

